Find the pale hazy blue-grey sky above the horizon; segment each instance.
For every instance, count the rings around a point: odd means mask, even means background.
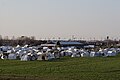
[[[0,34],[120,38],[120,0],[0,0]]]

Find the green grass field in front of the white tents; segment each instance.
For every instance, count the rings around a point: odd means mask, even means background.
[[[120,55],[53,61],[0,60],[0,80],[120,80]]]

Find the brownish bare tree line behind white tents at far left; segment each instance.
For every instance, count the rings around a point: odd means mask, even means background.
[[[37,46],[46,42],[47,41],[45,40],[36,40],[34,36],[32,37],[21,36],[18,37],[17,39],[15,38],[9,39],[7,36],[3,39],[0,36],[0,46],[17,46],[17,45],[24,46],[26,44],[30,46]]]

